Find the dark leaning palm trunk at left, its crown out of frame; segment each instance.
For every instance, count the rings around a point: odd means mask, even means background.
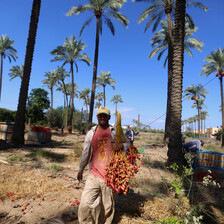
[[[32,68],[34,46],[36,42],[40,6],[41,0],[33,0],[32,13],[30,17],[29,35],[27,39],[26,55],[24,62],[24,73],[20,87],[19,103],[16,112],[16,121],[12,134],[12,142],[14,144],[24,144],[26,100],[28,95],[30,73]]]

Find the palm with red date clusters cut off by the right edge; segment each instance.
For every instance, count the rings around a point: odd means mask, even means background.
[[[204,61],[207,62],[207,64],[202,67],[202,72],[200,75],[205,74],[206,77],[208,77],[212,73],[216,72],[216,77],[220,80],[222,106],[222,147],[224,147],[224,101],[222,84],[222,78],[224,76],[224,49],[219,48],[218,50],[212,51]]]

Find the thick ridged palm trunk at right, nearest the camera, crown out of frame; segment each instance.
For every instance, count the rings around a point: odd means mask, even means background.
[[[181,139],[183,63],[185,35],[186,0],[176,0],[174,51],[173,51],[173,88],[171,100],[170,138],[168,144],[168,164],[183,164]]]

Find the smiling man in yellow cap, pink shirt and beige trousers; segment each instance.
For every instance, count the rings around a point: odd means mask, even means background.
[[[98,125],[85,137],[82,158],[77,179],[83,178],[83,170],[89,164],[87,177],[78,210],[80,224],[110,224],[114,216],[114,197],[112,189],[105,185],[105,167],[112,150],[127,151],[128,143],[118,143],[115,129],[109,125],[110,110],[100,107],[97,112]]]

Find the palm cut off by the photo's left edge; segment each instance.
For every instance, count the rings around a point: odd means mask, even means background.
[[[12,59],[16,61],[18,58],[17,51],[12,46],[14,45],[14,41],[11,40],[7,35],[2,35],[0,37],[0,54],[1,54],[1,71],[0,71],[0,99],[2,92],[2,74],[3,74],[3,59],[8,58],[11,63]]]

